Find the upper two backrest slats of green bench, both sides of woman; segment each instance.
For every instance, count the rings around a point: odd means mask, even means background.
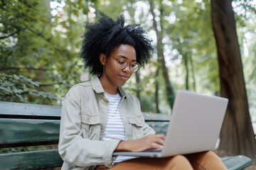
[[[60,106],[0,101],[0,148],[58,143]],[[170,115],[143,113],[157,133],[166,133]]]

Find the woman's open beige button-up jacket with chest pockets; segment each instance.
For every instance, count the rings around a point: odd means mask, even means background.
[[[146,123],[139,100],[118,87],[122,96],[120,114],[127,140],[154,134]],[[105,98],[100,79],[95,78],[73,86],[66,94],[60,120],[58,151],[62,169],[93,169],[95,165],[110,167],[119,140],[102,141],[107,125],[109,101]]]

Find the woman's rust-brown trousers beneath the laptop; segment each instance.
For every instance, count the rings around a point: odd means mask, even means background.
[[[106,166],[96,166],[97,170],[109,169]],[[176,155],[166,158],[137,158],[114,164],[110,170],[221,170],[226,169],[223,162],[212,152]]]

